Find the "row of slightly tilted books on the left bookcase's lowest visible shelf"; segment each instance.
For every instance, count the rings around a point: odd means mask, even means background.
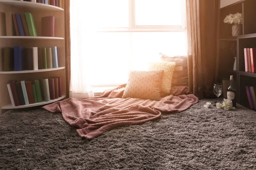
[[[34,81],[15,81],[7,84],[12,106],[58,99],[62,96],[61,77]]]

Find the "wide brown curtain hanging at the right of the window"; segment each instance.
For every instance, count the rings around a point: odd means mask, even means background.
[[[186,0],[189,90],[212,94],[218,76],[220,0]]]

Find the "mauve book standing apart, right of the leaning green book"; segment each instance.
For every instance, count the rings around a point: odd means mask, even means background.
[[[42,27],[42,36],[43,37],[54,37],[54,16],[42,17],[41,27]]]

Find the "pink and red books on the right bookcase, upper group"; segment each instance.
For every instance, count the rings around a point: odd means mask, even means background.
[[[245,71],[256,73],[256,48],[244,48]]]

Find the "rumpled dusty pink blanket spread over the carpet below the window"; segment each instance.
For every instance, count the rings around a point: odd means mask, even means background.
[[[157,119],[161,113],[178,113],[198,102],[193,94],[186,94],[186,87],[172,92],[160,101],[127,98],[122,99],[125,85],[105,91],[101,96],[88,99],[69,98],[46,105],[52,113],[62,113],[63,118],[77,133],[86,139],[123,125],[137,125]],[[185,93],[185,94],[184,94]]]

